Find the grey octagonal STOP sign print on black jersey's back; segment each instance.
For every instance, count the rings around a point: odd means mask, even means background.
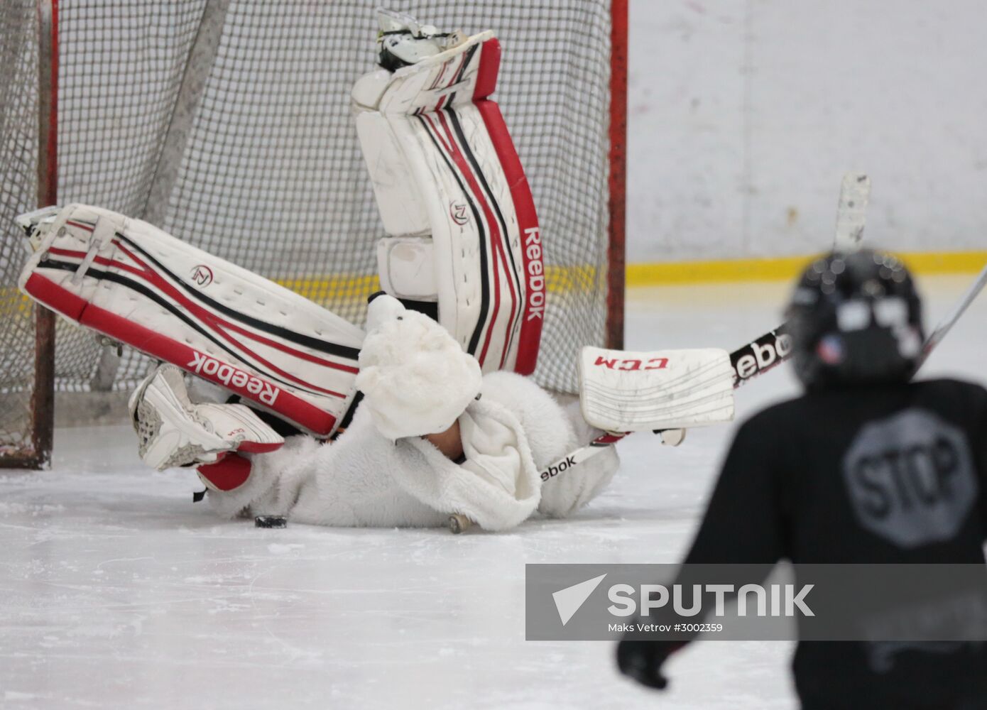
[[[861,525],[902,548],[949,540],[977,497],[966,436],[922,409],[864,427],[843,476]]]

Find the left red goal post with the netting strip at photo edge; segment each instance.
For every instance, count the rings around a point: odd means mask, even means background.
[[[0,466],[37,469],[51,458],[55,318],[17,293],[15,267],[26,252],[12,243],[20,235],[10,220],[18,211],[55,204],[58,198],[58,0],[6,5],[0,22],[8,76],[0,107],[5,168],[0,218],[6,222],[0,226]]]

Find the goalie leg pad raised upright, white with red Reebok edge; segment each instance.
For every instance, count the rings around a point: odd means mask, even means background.
[[[392,259],[385,246],[382,282],[434,294],[439,322],[485,371],[528,374],[541,338],[545,276],[531,191],[487,98],[499,51],[491,33],[474,36],[393,74],[363,77],[353,102],[385,229],[432,242],[432,281],[410,287],[418,262]]]

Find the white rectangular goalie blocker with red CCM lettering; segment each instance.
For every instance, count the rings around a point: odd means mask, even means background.
[[[583,348],[579,401],[607,432],[703,427],[733,419],[733,368],[715,348],[653,353]]]

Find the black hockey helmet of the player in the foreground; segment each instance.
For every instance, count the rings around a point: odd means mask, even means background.
[[[922,302],[897,257],[863,249],[816,259],[786,316],[796,373],[809,389],[908,379],[922,350]]]

